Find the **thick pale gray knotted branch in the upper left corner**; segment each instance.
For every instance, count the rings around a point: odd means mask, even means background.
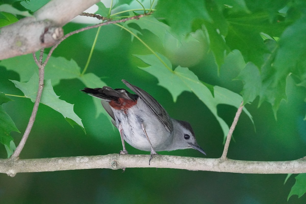
[[[51,0],[18,22],[0,28],[0,60],[50,47],[63,37],[62,26],[99,0]]]

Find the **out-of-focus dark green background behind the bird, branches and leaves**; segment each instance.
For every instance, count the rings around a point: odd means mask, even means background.
[[[69,23],[65,33],[84,27]],[[135,24],[135,29],[140,28]],[[97,29],[91,29],[66,39],[53,56],[73,59],[84,68]],[[151,48],[168,57],[174,67],[186,66],[200,80],[225,87],[236,93],[242,90],[241,81],[232,80],[239,73],[237,60],[226,59],[218,76],[214,57],[207,48],[201,32],[192,34],[196,40],[177,45],[171,35],[160,40],[147,30],[141,31]],[[46,50],[48,52],[48,50]],[[126,88],[121,79],[141,87],[167,110],[171,117],[186,120],[192,125],[199,145],[207,158],[219,158],[223,151],[222,130],[207,107],[192,93],[184,92],[177,102],[158,80],[137,66],[145,65],[132,54],[151,54],[137,39],[118,26],[101,28],[87,73],[93,72],[110,87]],[[240,55],[236,50],[235,55]],[[242,58],[242,57],[241,57]],[[2,92],[23,95],[7,80],[19,80],[19,75],[0,67]],[[241,114],[230,143],[228,158],[250,161],[284,161],[305,156],[306,122],[305,89],[297,87],[291,76],[287,79],[288,101],[282,101],[277,121],[271,105],[264,102],[258,108],[258,98],[245,107],[252,114],[255,128],[245,113]],[[74,104],[75,113],[82,119],[86,135],[80,127],[72,128],[58,112],[39,106],[36,121],[20,157],[50,158],[119,153],[122,149],[119,132],[108,116],[95,117],[92,97],[79,90],[80,80],[61,80],[54,86],[60,99]],[[10,97],[14,102],[3,104],[17,128],[23,133],[31,115],[30,99]],[[218,114],[230,126],[237,109],[219,105]],[[16,145],[22,134],[11,133]],[[149,154],[127,144],[130,154]],[[159,154],[203,157],[196,150],[175,150]],[[0,148],[0,157],[6,150]],[[57,172],[17,173],[13,178],[0,174],[0,203],[306,203],[306,196],[293,195],[287,202],[293,175],[284,184],[286,174],[237,174],[223,172],[187,171],[181,169],[130,168],[125,172],[111,169],[71,170]]]

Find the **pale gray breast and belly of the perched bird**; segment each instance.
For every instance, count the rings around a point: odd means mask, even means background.
[[[132,147],[139,150],[151,151],[141,124],[144,124],[148,138],[156,151],[167,150],[167,147],[171,144],[171,134],[141,98],[138,98],[136,105],[126,111],[114,108],[112,110],[114,112],[116,126],[119,127],[119,124],[121,124],[123,137]]]

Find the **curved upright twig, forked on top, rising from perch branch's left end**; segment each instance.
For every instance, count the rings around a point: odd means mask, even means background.
[[[36,64],[38,65],[38,70],[39,70],[39,84],[38,84],[37,96],[36,96],[36,100],[35,100],[35,103],[34,103],[33,111],[32,111],[28,126],[25,129],[24,135],[22,136],[21,141],[20,141],[19,145],[17,146],[16,150],[14,151],[14,153],[12,154],[11,158],[18,158],[19,157],[19,155],[21,153],[21,150],[23,149],[23,147],[25,145],[25,142],[28,139],[28,136],[29,136],[29,134],[32,130],[32,127],[33,127],[33,124],[34,124],[34,121],[35,121],[36,113],[37,113],[37,110],[38,110],[38,106],[39,106],[39,102],[40,102],[40,98],[41,98],[41,94],[43,92],[43,86],[44,86],[43,78],[44,78],[44,72],[45,72],[44,71],[45,65],[42,64],[43,50],[44,49],[40,50],[39,61],[37,60],[37,57],[36,57],[35,53],[33,53],[34,60],[35,60]]]

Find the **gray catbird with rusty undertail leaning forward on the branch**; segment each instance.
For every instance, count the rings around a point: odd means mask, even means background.
[[[128,154],[124,140],[136,149],[151,151],[149,164],[156,151],[193,148],[205,154],[188,122],[171,118],[147,92],[126,80],[122,82],[136,94],[107,86],[81,90],[102,99],[104,109],[120,132],[123,146],[120,154]]]

